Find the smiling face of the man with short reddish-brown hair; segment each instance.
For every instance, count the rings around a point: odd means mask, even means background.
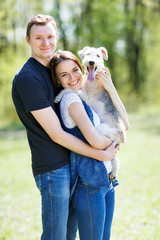
[[[53,25],[33,25],[30,38],[26,39],[31,47],[32,57],[47,66],[57,47],[57,34]]]

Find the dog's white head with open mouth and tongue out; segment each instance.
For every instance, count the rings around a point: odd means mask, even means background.
[[[82,59],[82,65],[88,80],[93,81],[97,72],[100,72],[104,67],[104,59],[108,60],[108,53],[104,47],[84,47],[78,51],[79,56]]]

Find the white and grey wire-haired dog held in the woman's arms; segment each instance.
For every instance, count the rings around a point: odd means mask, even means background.
[[[115,140],[118,144],[124,143],[125,126],[123,121],[114,107],[109,94],[98,84],[95,78],[96,73],[104,68],[103,59],[108,59],[107,50],[104,47],[84,47],[78,54],[82,59],[82,65],[85,70],[84,77],[87,78],[87,83],[83,90],[78,90],[76,93],[98,114],[101,124],[96,127],[97,130],[112,141]],[[56,97],[55,102],[59,102],[67,92],[73,91],[71,89],[62,90]],[[111,165],[114,180],[117,177],[119,168],[118,158],[112,159]]]

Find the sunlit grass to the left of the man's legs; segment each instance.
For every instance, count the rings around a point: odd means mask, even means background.
[[[0,239],[39,239],[40,197],[24,131],[1,132],[0,155]]]

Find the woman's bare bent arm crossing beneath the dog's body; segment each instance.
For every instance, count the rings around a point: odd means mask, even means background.
[[[68,107],[68,112],[76,125],[81,130],[89,144],[98,149],[105,149],[112,141],[98,133],[91,120],[89,119],[84,106],[80,102],[73,102]]]

